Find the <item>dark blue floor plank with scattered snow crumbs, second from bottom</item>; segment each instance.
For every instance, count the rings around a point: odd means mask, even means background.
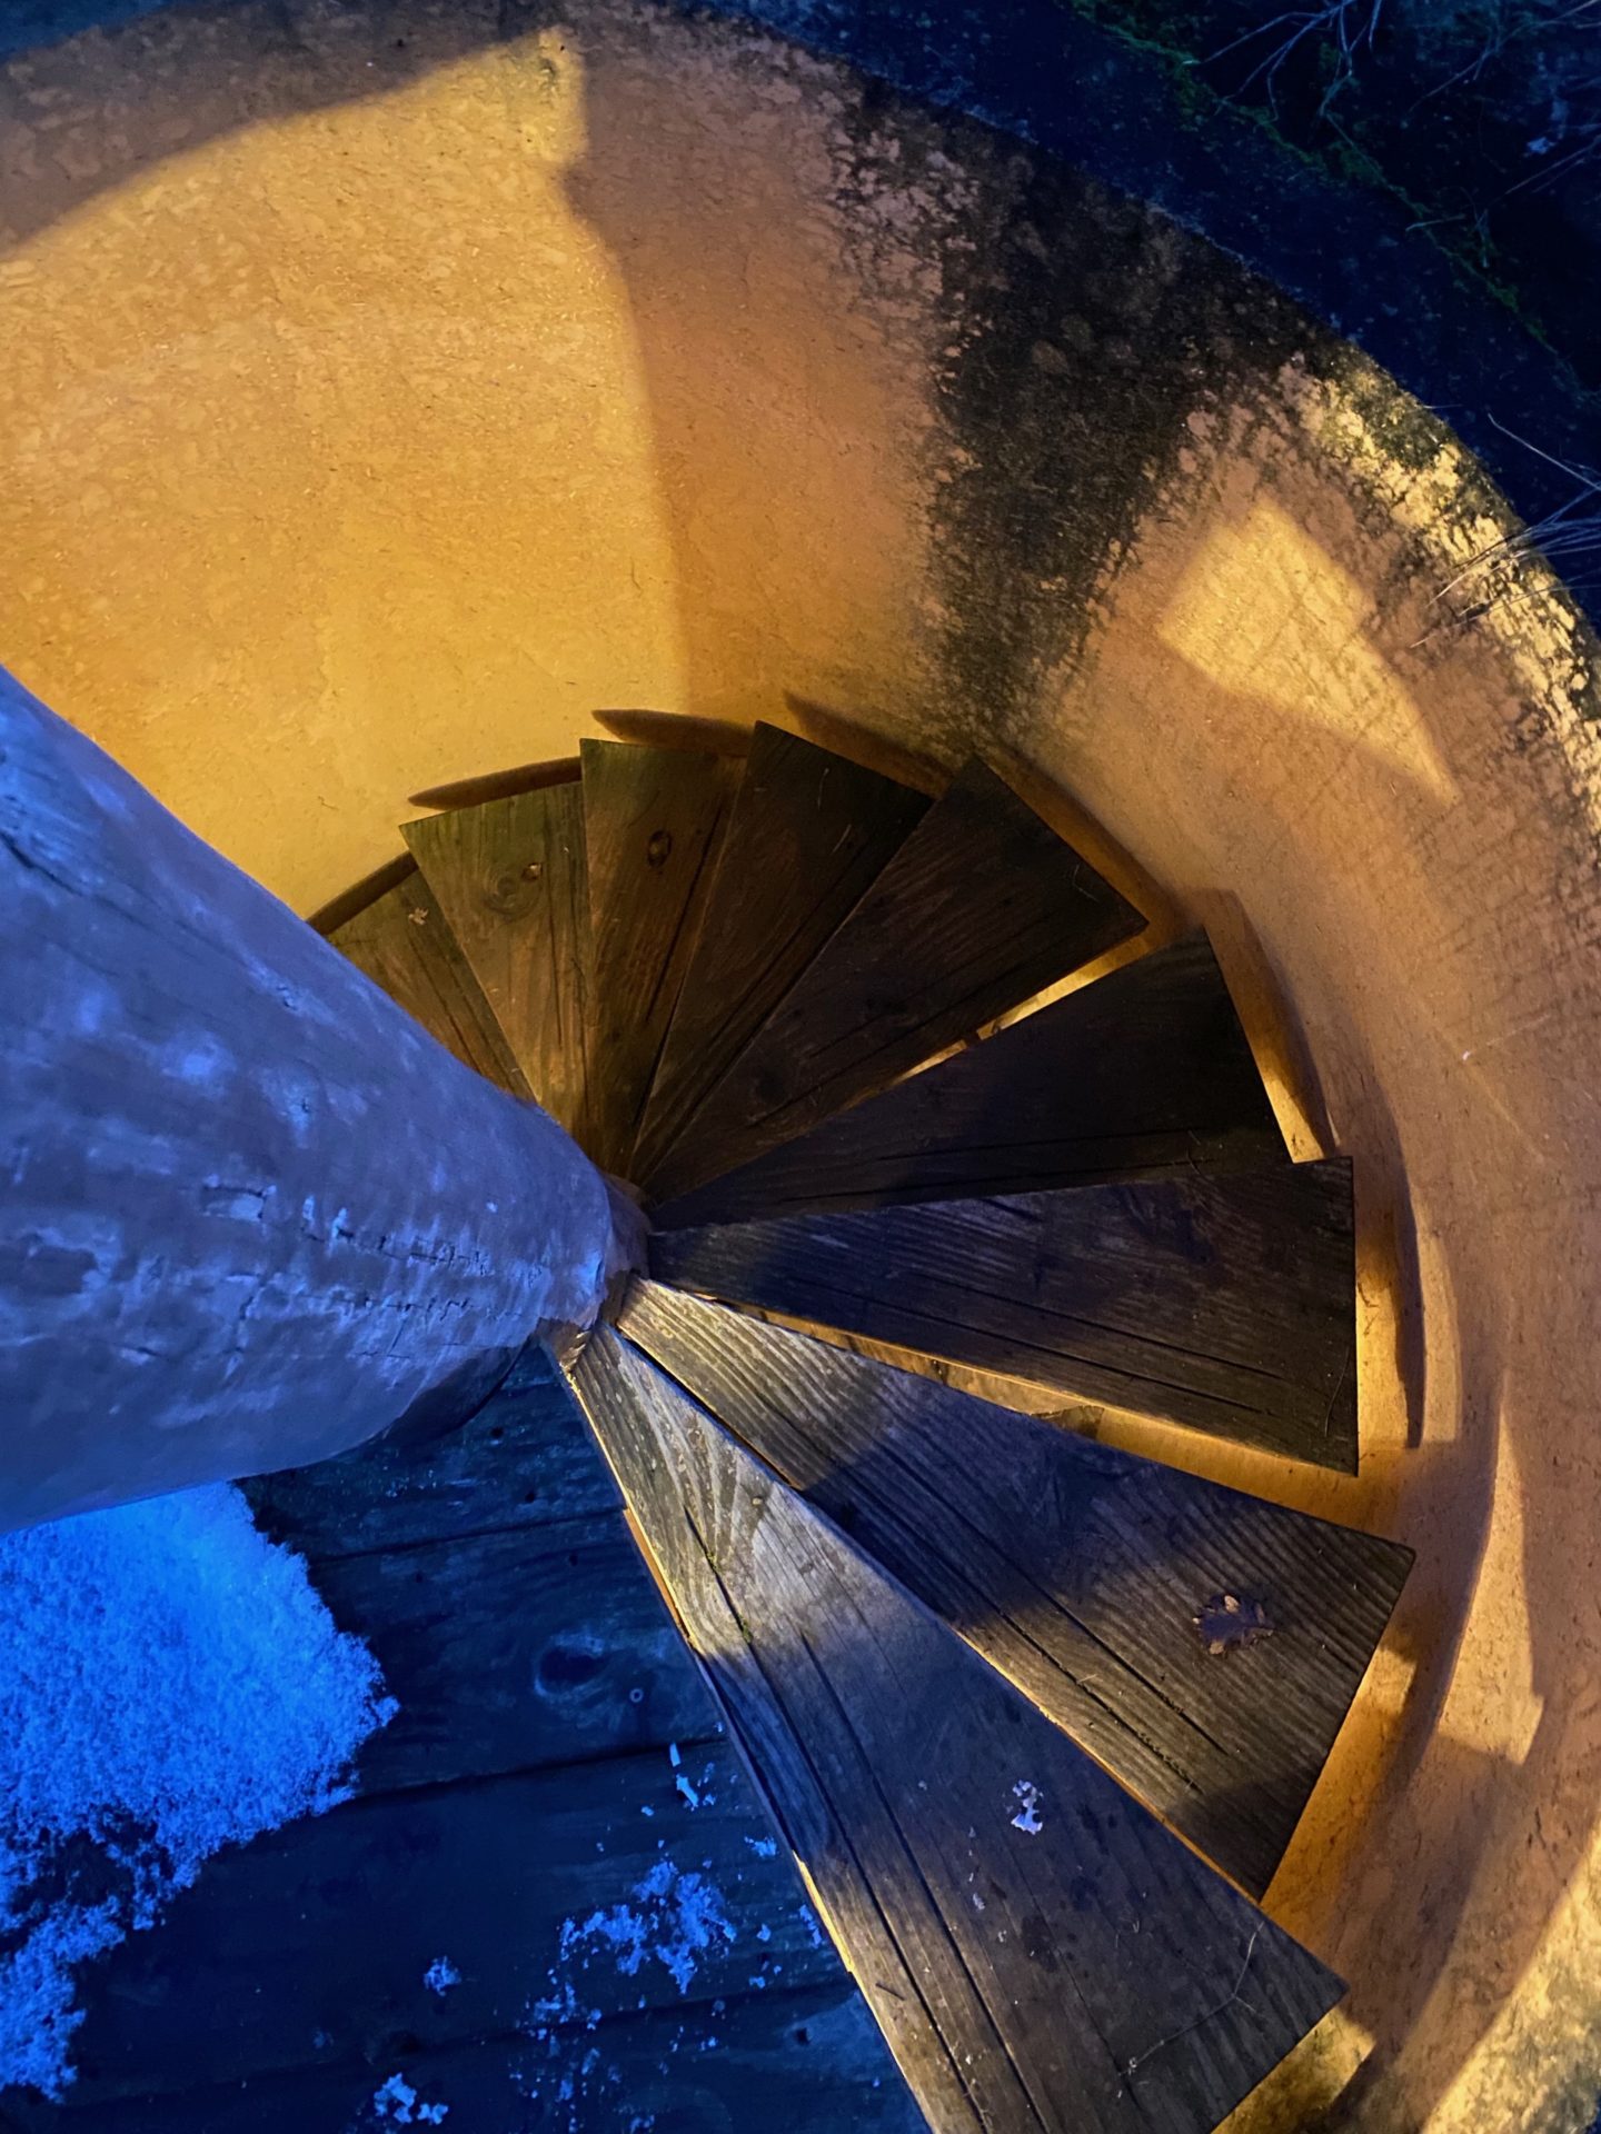
[[[839,1985],[794,1863],[768,1846],[719,1743],[679,1771],[651,1752],[350,1801],[220,1852],[85,1974],[75,2104],[307,2064],[389,2070],[549,2021],[732,1997],[751,1976]],[[425,1985],[440,1957],[461,1974],[448,1993]]]

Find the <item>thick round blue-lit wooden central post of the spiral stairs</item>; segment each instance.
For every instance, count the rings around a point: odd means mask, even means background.
[[[593,1321],[604,1176],[0,674],[0,1530],[299,1466]]]

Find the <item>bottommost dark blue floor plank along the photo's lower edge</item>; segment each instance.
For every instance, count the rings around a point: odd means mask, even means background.
[[[587,2021],[534,2021],[529,2034],[431,2053],[395,2049],[376,2066],[301,2068],[226,2089],[120,2098],[66,2115],[23,2102],[17,2134],[386,2134],[380,2100],[401,2074],[418,2104],[444,2104],[450,2134],[924,2134],[924,2119],[860,1993],[845,1980],[798,1993],[743,1993]],[[775,2117],[775,2100],[781,2119]]]

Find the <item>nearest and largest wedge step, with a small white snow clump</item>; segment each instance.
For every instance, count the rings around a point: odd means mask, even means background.
[[[1341,1995],[606,1327],[574,1383],[935,2134],[1202,2134]]]

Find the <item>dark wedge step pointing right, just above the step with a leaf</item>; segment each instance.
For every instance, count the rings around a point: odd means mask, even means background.
[[[1356,1472],[1343,1159],[670,1229],[651,1274]]]

